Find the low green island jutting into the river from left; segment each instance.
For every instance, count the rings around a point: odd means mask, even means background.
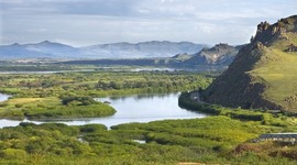
[[[6,119],[96,118],[114,113],[112,107],[91,97],[12,98],[0,103],[0,117]]]

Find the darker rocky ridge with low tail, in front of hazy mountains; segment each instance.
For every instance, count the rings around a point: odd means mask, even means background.
[[[88,59],[69,61],[65,64],[76,65],[134,65],[134,66],[167,66],[208,69],[208,66],[226,68],[235,57],[241,46],[217,44],[211,48],[202,48],[194,54],[177,54],[172,57],[130,58],[130,59]]]

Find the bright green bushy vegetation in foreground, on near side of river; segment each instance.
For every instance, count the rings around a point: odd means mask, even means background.
[[[266,132],[297,130],[296,120],[292,118],[265,116],[267,118],[256,121],[218,116],[130,123],[109,131],[100,124],[21,123],[0,130],[0,163],[296,164],[295,145],[246,142]]]

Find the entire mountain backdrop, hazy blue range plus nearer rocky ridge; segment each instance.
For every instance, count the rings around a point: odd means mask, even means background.
[[[211,66],[224,69],[234,59],[240,47],[220,43],[208,48],[205,44],[167,41],[74,47],[44,41],[36,44],[2,45],[0,61],[63,59],[66,64],[79,65],[191,67],[202,70]]]

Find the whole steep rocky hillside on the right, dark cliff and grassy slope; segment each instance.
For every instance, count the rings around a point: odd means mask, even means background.
[[[297,15],[262,22],[255,37],[202,94],[229,107],[297,111]]]

